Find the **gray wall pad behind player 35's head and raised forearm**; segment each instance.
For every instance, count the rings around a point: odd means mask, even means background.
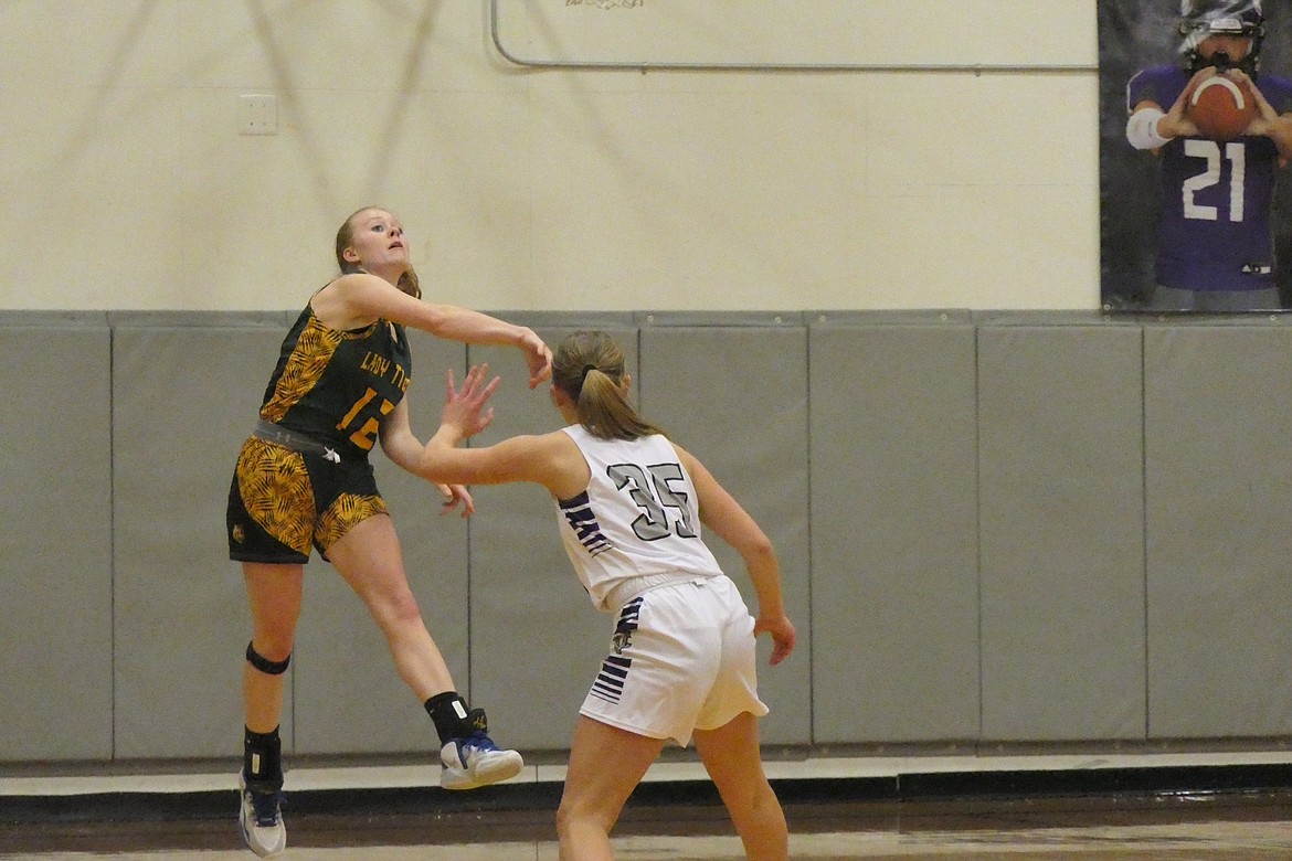
[[[567,316],[566,319],[574,315]],[[552,347],[592,325],[610,332],[637,376],[632,319],[594,318],[552,325],[523,315]],[[516,434],[562,426],[550,386],[530,390],[521,354],[510,347],[470,347],[472,363],[488,363],[503,385],[494,396],[494,425],[473,440],[490,445]],[[568,749],[579,706],[610,645],[614,620],[593,609],[561,546],[552,494],[537,484],[473,488],[472,696],[488,710],[495,738],[522,750]]]

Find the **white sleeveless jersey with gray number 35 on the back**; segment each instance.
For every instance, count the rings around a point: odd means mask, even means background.
[[[588,489],[558,500],[561,540],[598,609],[627,580],[678,574],[722,576],[700,538],[699,500],[691,476],[665,436],[606,440],[581,425],[563,429],[588,461]]]

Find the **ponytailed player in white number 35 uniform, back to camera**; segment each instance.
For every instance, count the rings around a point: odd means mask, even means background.
[[[755,636],[771,663],[795,647],[780,568],[766,534],[685,449],[628,401],[620,347],[602,332],[566,338],[552,365],[552,400],[567,427],[459,448],[492,420],[497,380],[450,376],[443,423],[419,472],[438,483],[534,481],[550,491],[575,572],[592,603],[618,614],[610,654],[580,709],[557,831],[563,861],[611,858],[610,831],[650,764],[672,740],[695,747],[745,855],[784,861],[784,813],[758,751]],[[757,618],[704,545],[700,524],[745,563]]]

